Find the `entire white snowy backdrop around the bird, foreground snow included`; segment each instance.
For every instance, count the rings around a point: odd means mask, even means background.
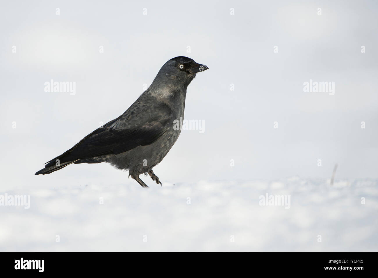
[[[0,194],[30,194],[31,208],[0,207],[0,249],[376,251],[377,8],[2,2]],[[162,189],[142,177],[152,187],[143,191],[105,163],[34,176],[123,113],[175,56],[209,67],[189,85],[185,109],[205,132],[181,132],[154,168]],[[50,79],[76,82],[76,95],[44,92]],[[310,79],[335,82],[335,95],[305,93]],[[260,207],[265,193],[291,194],[291,208]]]

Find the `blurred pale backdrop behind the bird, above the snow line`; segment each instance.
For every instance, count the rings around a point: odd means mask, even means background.
[[[3,188],[125,181],[105,163],[34,172],[123,113],[175,56],[209,67],[185,108],[204,132],[181,132],[154,168],[163,183],[327,179],[335,163],[336,179],[378,177],[376,1],[39,3],[0,9]],[[45,92],[51,79],[76,94]],[[304,92],[310,79],[335,94]]]

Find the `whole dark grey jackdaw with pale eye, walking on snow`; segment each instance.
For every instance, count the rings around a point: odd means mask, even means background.
[[[151,86],[118,118],[96,129],[63,154],[36,172],[50,174],[71,163],[108,162],[118,169],[129,170],[129,177],[148,187],[140,174],[159,178],[152,168],[163,160],[176,142],[180,129],[174,120],[184,117],[186,88],[197,72],[208,67],[188,57],[167,61]]]

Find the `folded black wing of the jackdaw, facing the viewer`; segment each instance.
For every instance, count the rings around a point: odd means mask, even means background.
[[[134,103],[137,104],[137,103]],[[173,126],[174,115],[164,103],[132,105],[121,116],[84,137],[45,167],[106,154],[120,154],[152,144]]]

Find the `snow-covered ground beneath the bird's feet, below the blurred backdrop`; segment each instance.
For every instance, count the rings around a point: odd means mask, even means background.
[[[29,209],[0,206],[0,251],[378,251],[378,180],[144,179],[22,189]]]

